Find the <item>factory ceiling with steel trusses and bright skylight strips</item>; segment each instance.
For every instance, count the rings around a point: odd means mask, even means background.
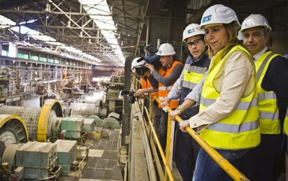
[[[149,9],[154,8],[153,15],[157,12],[158,17],[168,16],[169,13],[166,12],[173,8],[168,6],[171,1],[173,0],[0,0],[0,15],[13,20],[16,27],[21,23],[22,26],[94,56],[100,60],[95,61],[97,65],[123,66],[125,58],[136,54],[139,45],[145,42],[143,29],[146,28],[146,17],[150,16],[150,13],[147,13],[151,12]],[[262,13],[269,19],[274,30],[288,29],[286,0],[180,2],[187,4],[184,9],[187,23],[199,23],[207,6],[223,3],[237,12],[240,21],[250,13]],[[107,3],[109,8],[104,8],[103,3]],[[155,10],[154,5],[157,5],[158,9]],[[113,19],[113,23],[109,22],[109,18]],[[34,22],[29,22],[33,19]],[[104,23],[113,26],[102,26]],[[29,42],[29,46],[35,45],[33,48],[45,47],[54,52],[61,50],[59,45],[10,31],[9,28],[0,29],[0,40]]]

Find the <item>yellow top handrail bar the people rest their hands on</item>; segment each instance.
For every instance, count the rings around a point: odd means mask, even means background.
[[[158,97],[153,97],[153,100],[156,100],[159,104],[162,102],[161,100],[158,99]],[[170,107],[166,108],[169,113],[173,111]],[[178,123],[180,123],[182,121],[182,118],[180,118],[180,116],[175,116],[175,120],[177,120]],[[154,128],[152,127],[152,129]],[[209,145],[208,143],[206,143],[206,141],[201,139],[198,136],[198,134],[196,134],[195,131],[191,129],[191,127],[186,127],[185,130],[193,137],[193,139],[195,139],[195,141],[197,141],[197,143],[199,143],[199,145],[208,153],[208,155],[210,155],[210,157],[214,159],[214,161],[219,166],[221,166],[221,168],[223,168],[223,170],[228,175],[230,175],[230,177],[233,180],[239,180],[239,181],[248,180],[248,178],[246,178],[245,175],[243,175],[240,171],[238,171],[237,168],[232,166],[232,164],[230,164],[230,162],[228,162],[227,159],[222,157],[222,155],[220,155],[214,148],[212,148],[211,145]]]

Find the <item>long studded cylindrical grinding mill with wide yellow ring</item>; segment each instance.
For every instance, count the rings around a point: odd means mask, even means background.
[[[61,122],[57,117],[63,117],[61,102],[47,100],[42,108],[1,106],[0,114],[12,114],[23,118],[27,126],[29,139],[45,142],[60,129]]]

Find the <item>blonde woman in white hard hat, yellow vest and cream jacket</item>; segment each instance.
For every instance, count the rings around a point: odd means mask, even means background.
[[[198,114],[180,123],[190,125],[200,137],[234,166],[250,148],[260,143],[255,65],[237,39],[240,27],[234,10],[217,4],[202,15],[201,28],[211,58]],[[231,180],[200,149],[193,180]]]

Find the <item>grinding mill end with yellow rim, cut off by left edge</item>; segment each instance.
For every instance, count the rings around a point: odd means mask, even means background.
[[[8,145],[27,141],[28,132],[24,120],[19,116],[0,114],[0,160]]]

